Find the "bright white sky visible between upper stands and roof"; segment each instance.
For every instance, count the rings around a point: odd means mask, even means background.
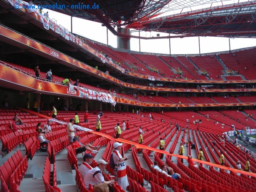
[[[44,10],[45,11],[45,10]],[[48,11],[48,10],[47,10]],[[49,18],[57,20],[57,24],[71,31],[71,17],[49,10]],[[73,32],[94,41],[107,44],[107,28],[101,23],[92,22],[73,17]],[[156,37],[159,32],[140,32],[141,36]],[[138,32],[132,32],[137,35]],[[160,33],[160,36],[168,34]],[[108,31],[108,44],[116,48],[116,36]],[[244,47],[256,46],[256,38],[235,38],[230,39],[230,48],[240,49]],[[169,54],[169,39],[141,40],[141,52],[154,52]],[[201,53],[219,52],[229,50],[229,39],[219,37],[200,37]],[[139,39],[131,39],[131,50],[139,51]],[[191,38],[171,38],[171,54],[198,54],[198,37]]]

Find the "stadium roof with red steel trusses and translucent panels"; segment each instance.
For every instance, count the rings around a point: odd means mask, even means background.
[[[242,2],[244,1],[244,2]],[[99,9],[58,9],[58,12],[102,23],[114,35],[115,27],[164,32],[163,37],[256,37],[256,1],[251,0],[35,0],[35,4],[94,3]],[[232,4],[230,4],[232,3]],[[171,35],[172,34],[172,35]],[[150,37],[152,38],[152,37]],[[144,38],[144,39],[150,39]]]

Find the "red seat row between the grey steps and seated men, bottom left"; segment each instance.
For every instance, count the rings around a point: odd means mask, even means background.
[[[51,180],[52,180],[52,183],[51,183]],[[51,173],[51,163],[48,157],[46,158],[46,161],[44,164],[43,181],[44,181],[46,192],[61,192],[61,189],[57,187],[55,163],[53,163],[53,171]]]

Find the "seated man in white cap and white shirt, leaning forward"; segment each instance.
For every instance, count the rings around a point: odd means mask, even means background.
[[[107,162],[105,160],[98,160],[97,166],[91,170],[89,170],[84,177],[84,185],[86,189],[89,188],[89,184],[93,186],[99,183],[113,184],[115,180],[105,181],[102,175],[102,171],[106,169]]]

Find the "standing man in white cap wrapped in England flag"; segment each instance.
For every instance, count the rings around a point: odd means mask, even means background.
[[[113,174],[115,175],[115,180],[122,189],[126,190],[126,187],[129,186],[127,174],[126,174],[126,163],[125,160],[128,157],[120,154],[122,143],[114,143],[113,144],[113,160],[115,162],[115,169],[113,170]]]

